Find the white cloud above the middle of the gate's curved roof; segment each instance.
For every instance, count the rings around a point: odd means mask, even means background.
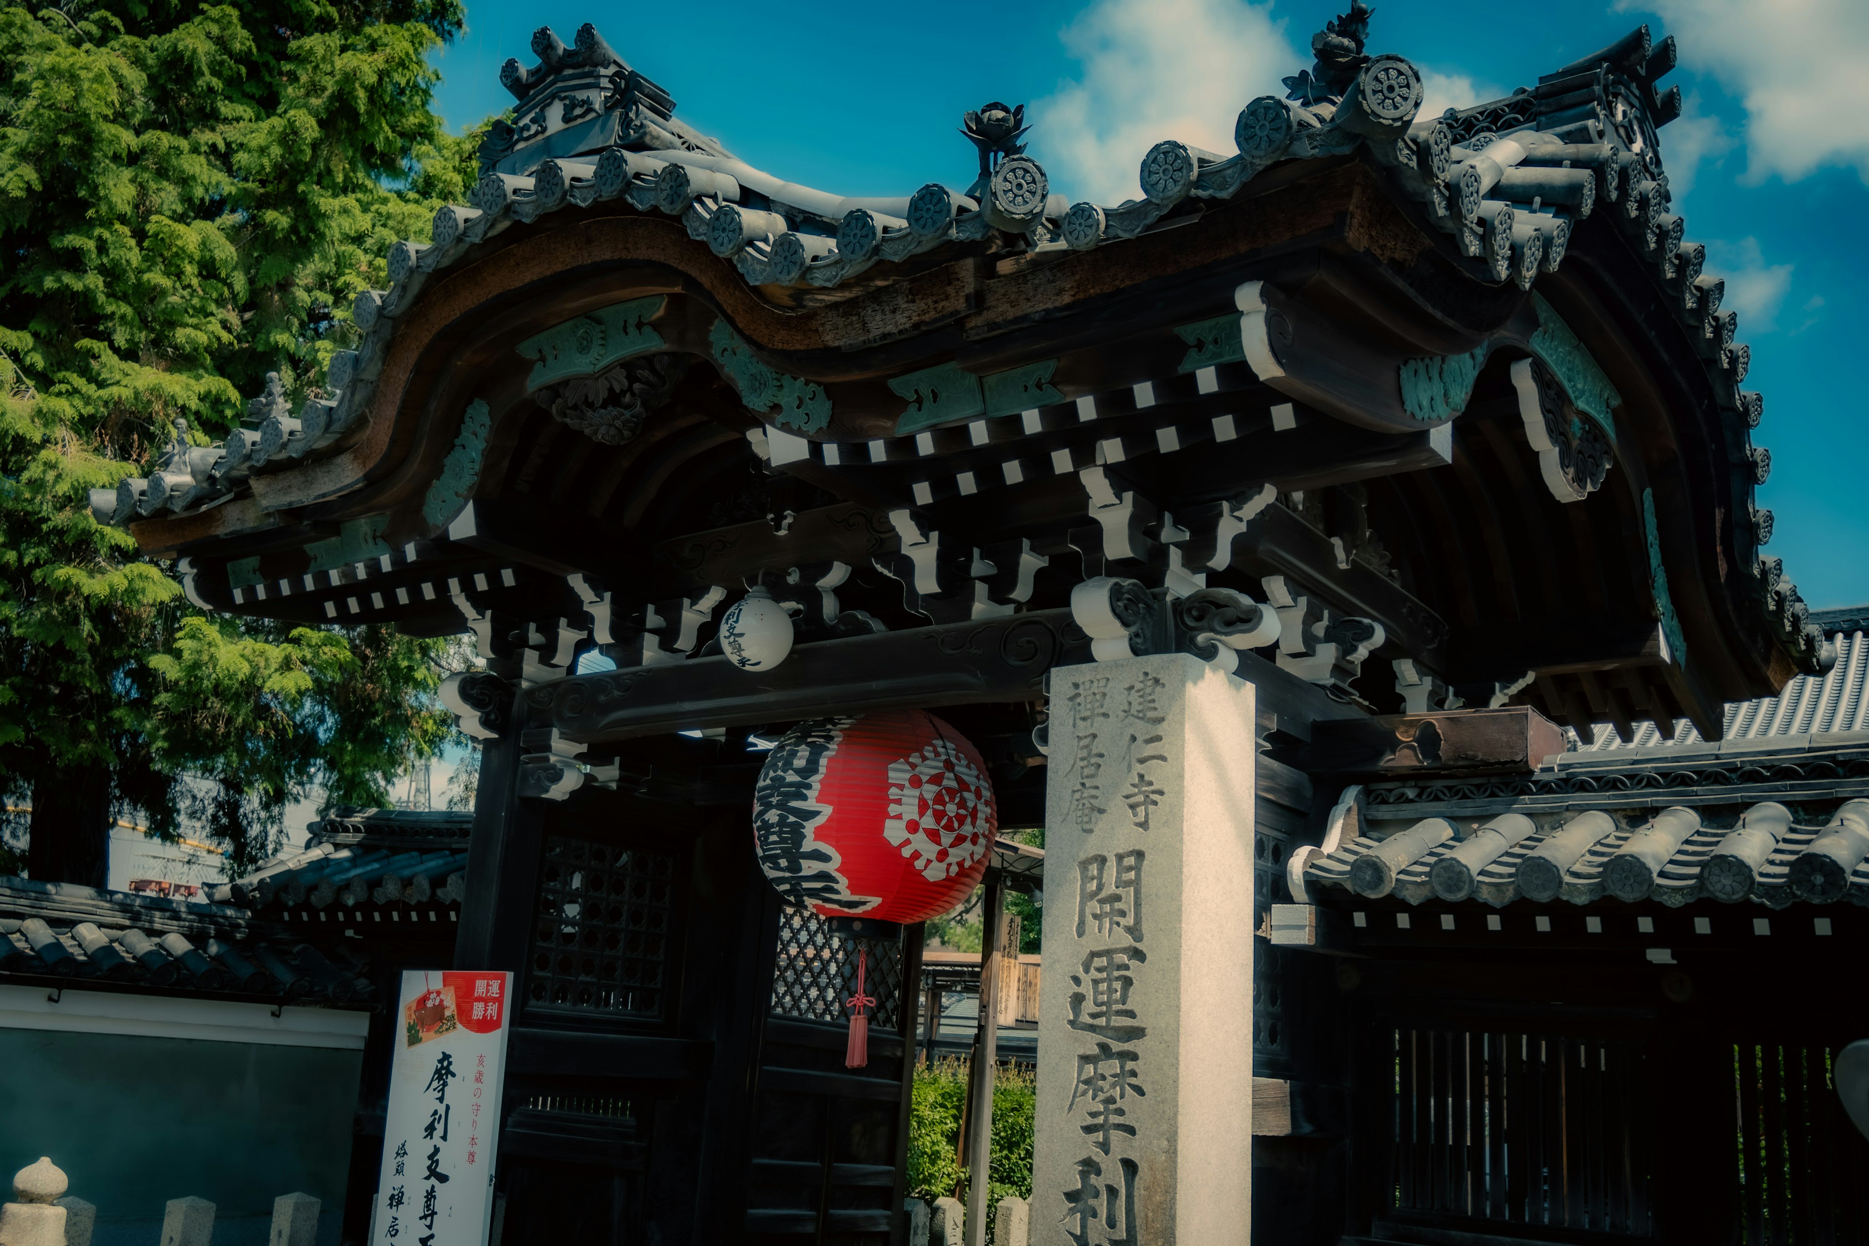
[[[1034,155],[1054,191],[1101,204],[1140,196],[1164,138],[1232,153],[1239,110],[1310,65],[1269,2],[1097,0],[1060,37],[1082,71],[1032,105]]]

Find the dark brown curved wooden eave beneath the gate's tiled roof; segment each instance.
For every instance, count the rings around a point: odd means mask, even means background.
[[[1280,353],[1286,375],[1262,381],[1248,364],[1226,362],[1217,368],[1219,392],[1194,392],[1177,372],[1187,342],[1174,329],[1230,314],[1247,280],[1263,282],[1269,304],[1291,325]],[[731,583],[665,557],[678,547],[718,545],[714,557],[735,562],[735,575],[751,570],[725,555],[742,538],[772,551],[763,570],[852,551],[849,529],[798,521],[774,540],[746,523],[738,534],[710,523],[725,495],[753,489],[774,510],[804,516],[837,497],[860,504],[867,516],[856,531],[871,560],[899,549],[892,510],[914,512],[955,547],[1030,536],[1050,568],[1026,607],[1056,607],[1080,575],[1149,583],[1161,566],[1148,557],[1103,566],[1101,555],[1082,549],[1073,531],[1093,521],[1075,474],[1032,473],[1017,488],[948,491],[920,504],[916,486],[931,473],[951,480],[974,461],[985,471],[987,456],[959,428],[933,432],[933,456],[914,437],[893,437],[901,400],[886,381],[949,359],[976,374],[1058,359],[1054,385],[1067,402],[1041,407],[1037,432],[1007,432],[1006,452],[1037,463],[1062,452],[1082,469],[1110,437],[1125,450],[1136,445],[1108,463],[1108,478],[1155,514],[1179,521],[1263,484],[1290,493],[1366,482],[1368,525],[1391,555],[1389,573],[1346,560],[1333,532],[1275,510],[1235,540],[1230,572],[1213,583],[1260,596],[1258,575],[1290,575],[1334,609],[1383,622],[1392,639],[1377,659],[1409,656],[1452,684],[1506,684],[1540,671],[1523,695],[1561,721],[1688,715],[1705,729],[1721,701],[1772,691],[1794,669],[1762,622],[1751,531],[1734,519],[1746,497],[1742,473],[1751,471],[1731,448],[1746,443],[1744,430],[1710,390],[1691,331],[1662,314],[1667,291],[1607,211],[1579,224],[1570,262],[1540,276],[1536,290],[1624,398],[1607,482],[1581,503],[1559,504],[1542,489],[1516,426],[1505,370],[1536,329],[1527,297],[1510,282],[1477,280],[1363,159],[1293,164],[1125,247],[961,256],[798,310],[763,303],[673,222],[598,205],[514,226],[434,275],[398,323],[372,415],[342,454],[260,476],[252,499],[133,531],[146,549],[189,557],[196,596],[221,609],[323,622],[333,594],[348,603],[361,592],[361,611],[338,622],[379,618],[437,631],[460,628],[447,594],[411,592],[400,605],[394,588],[505,570],[514,575],[512,616],[549,620],[579,611],[561,583],[549,583],[568,570],[647,603],[697,581]],[[589,443],[525,396],[531,364],[514,355],[514,342],[650,293],[667,297],[656,321],[667,349],[693,355],[695,364],[641,437],[624,446]],[[830,465],[813,445],[779,473],[764,471],[744,439],[761,420],[708,359],[716,319],[770,366],[832,394],[835,418],[822,435],[843,446],[880,437],[888,458]],[[1439,441],[1385,396],[1404,361],[1488,342],[1495,349],[1473,402]],[[1157,387],[1157,404],[1144,409],[1131,400],[1125,409],[1123,394],[1140,383]],[[1082,424],[1077,394],[1095,396],[1110,415]],[[503,517],[505,536],[445,540],[422,519],[421,503],[454,443],[460,411],[477,398],[493,409],[493,433],[475,499]],[[1275,407],[1288,413],[1286,428],[1277,426]],[[1151,452],[1155,430],[1198,430],[1220,409],[1237,420],[1237,439]],[[989,420],[992,437],[1019,418]],[[1645,489],[1654,495],[1686,661],[1658,656],[1650,643]],[[787,491],[802,504],[781,504]],[[303,583],[303,547],[368,516],[387,516],[389,555],[363,568],[357,592],[344,583],[299,600],[235,603],[221,588],[228,560],[256,555],[265,579]],[[1144,529],[1136,549],[1159,549],[1159,538]],[[867,590],[888,596],[890,587],[878,581]],[[372,592],[383,596],[381,607],[363,605]],[[912,626],[916,605],[895,605],[890,626]],[[1379,699],[1385,684],[1385,676],[1366,680]]]

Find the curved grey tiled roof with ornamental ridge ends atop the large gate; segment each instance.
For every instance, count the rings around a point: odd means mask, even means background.
[[[1140,198],[1099,205],[1050,192],[1045,170],[1015,142],[1019,114],[1004,105],[968,114],[979,176],[964,191],[929,181],[910,196],[856,200],[800,187],[675,121],[675,101],[592,26],[579,28],[572,47],[540,30],[533,39],[540,64],[503,69],[520,97],[518,121],[495,127],[482,148],[484,176],[471,204],[441,207],[428,243],[391,248],[389,290],[357,297],[361,340],[331,361],[318,396],[293,411],[271,377],[228,439],[196,446],[178,432],[148,478],[93,491],[92,510],[107,523],[185,514],[254,493],[252,480],[269,471],[338,454],[355,441],[394,325],[430,275],[551,213],[606,204],[607,213],[675,217],[763,297],[802,304],[849,297],[860,276],[863,286],[886,284],[925,267],[918,258],[929,252],[1043,260],[1121,245],[1192,219],[1206,202],[1239,196],[1278,166],[1349,155],[1377,166],[1419,205],[1424,226],[1452,235],[1460,262],[1490,284],[1531,290],[1562,263],[1574,222],[1611,217],[1690,327],[1718,402],[1746,428],[1759,424],[1761,396],[1738,389],[1749,364],[1749,349],[1734,340],[1738,318],[1721,310],[1723,282],[1703,273],[1705,247],[1684,241],[1686,222],[1671,211],[1656,127],[1682,105],[1678,88],[1663,92],[1656,80],[1675,67],[1673,37],[1652,41],[1641,26],[1536,88],[1439,118],[1419,118],[1422,84],[1407,60],[1363,56],[1361,34],[1355,45],[1355,56],[1320,58],[1314,73],[1290,78],[1288,97],[1248,103],[1235,151],[1159,142],[1142,155]],[[910,260],[916,265],[905,267]],[[776,418],[768,409],[759,415]],[[1432,413],[1420,418],[1434,422]],[[1738,450],[1748,478],[1762,484],[1770,454],[1749,441]],[[1740,506],[1762,544],[1770,512]],[[1796,637],[1807,611],[1776,560],[1762,562],[1772,609]]]

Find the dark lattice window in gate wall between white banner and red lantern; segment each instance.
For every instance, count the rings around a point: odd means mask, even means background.
[[[662,1020],[675,857],[546,837],[527,1007]]]

